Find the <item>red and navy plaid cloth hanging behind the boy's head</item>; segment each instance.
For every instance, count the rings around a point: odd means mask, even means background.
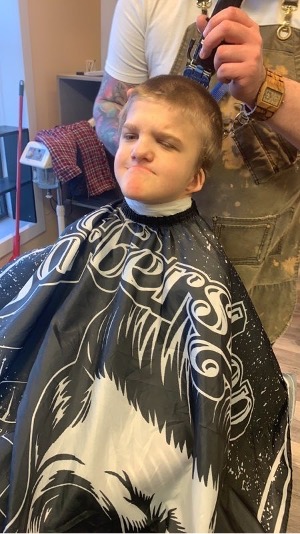
[[[82,174],[89,196],[115,188],[104,146],[88,121],[40,130],[35,140],[48,148],[53,171],[61,182]]]

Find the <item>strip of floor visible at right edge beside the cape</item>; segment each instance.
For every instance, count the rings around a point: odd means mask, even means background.
[[[292,322],[274,345],[274,351],[283,372],[297,376],[297,402],[291,425],[293,455],[293,492],[288,532],[300,532],[300,279],[298,303]]]

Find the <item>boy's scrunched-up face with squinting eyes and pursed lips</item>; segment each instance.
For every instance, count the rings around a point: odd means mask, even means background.
[[[115,174],[125,197],[162,204],[199,191],[199,132],[169,104],[135,100],[121,131]]]

